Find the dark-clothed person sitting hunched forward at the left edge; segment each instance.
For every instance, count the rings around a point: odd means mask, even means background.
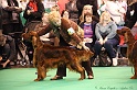
[[[15,56],[14,40],[0,30],[0,68],[6,68]]]

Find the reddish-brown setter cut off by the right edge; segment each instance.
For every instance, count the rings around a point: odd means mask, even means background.
[[[125,43],[127,43],[127,57],[129,61],[134,66],[135,74],[130,79],[137,79],[137,41],[131,34],[131,30],[128,27],[123,27],[122,30],[117,30],[118,35],[123,35],[125,38]]]

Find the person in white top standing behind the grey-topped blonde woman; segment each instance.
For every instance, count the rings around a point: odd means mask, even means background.
[[[124,26],[127,10],[122,3],[117,0],[109,0],[106,2],[106,11],[109,12],[112,20],[117,24],[118,29]]]

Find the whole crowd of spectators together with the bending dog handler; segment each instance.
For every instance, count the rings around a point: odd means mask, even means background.
[[[43,42],[52,45],[72,46],[92,50],[96,58],[102,47],[108,54],[113,66],[117,66],[114,47],[119,44],[116,31],[123,26],[133,29],[137,21],[137,0],[61,0],[45,12],[41,0],[1,0],[0,1],[0,67],[6,68],[10,61],[18,59],[15,40],[11,33],[35,31]],[[24,25],[21,14],[25,19]],[[51,40],[51,37],[53,40]],[[46,38],[46,40],[45,40]],[[27,45],[29,59],[33,59],[33,47]],[[2,61],[4,59],[4,61]],[[82,63],[88,79],[93,79],[92,63]],[[63,79],[66,66],[59,66],[55,77]]]

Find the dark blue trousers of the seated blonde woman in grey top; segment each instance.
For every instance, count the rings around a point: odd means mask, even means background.
[[[95,52],[95,57],[99,55],[102,47],[104,47],[109,55],[110,58],[116,57],[116,53],[114,50],[114,47],[116,47],[119,44],[119,41],[117,38],[110,38],[107,40],[104,45],[101,45],[98,41],[95,42],[94,45],[94,52]]]

